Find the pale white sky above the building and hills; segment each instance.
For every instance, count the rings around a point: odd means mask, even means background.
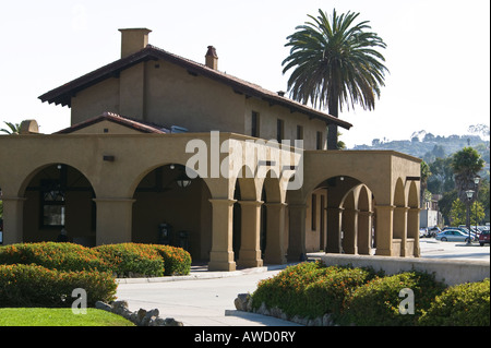
[[[35,119],[43,133],[70,125],[68,107],[38,96],[120,58],[119,28],[152,29],[149,44],[273,92],[287,91],[286,37],[316,15],[359,12],[387,44],[390,73],[372,111],[340,112],[348,148],[415,131],[466,134],[490,124],[488,0],[16,0],[0,7],[0,128]]]

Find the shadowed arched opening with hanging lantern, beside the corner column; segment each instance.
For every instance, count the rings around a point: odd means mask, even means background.
[[[180,247],[193,261],[212,249],[211,193],[203,179],[190,179],[178,164],[147,172],[133,194],[132,241]]]

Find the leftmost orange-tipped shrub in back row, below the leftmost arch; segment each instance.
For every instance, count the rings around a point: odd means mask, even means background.
[[[0,264],[36,264],[58,271],[108,271],[91,248],[73,243],[39,242],[0,247]]]

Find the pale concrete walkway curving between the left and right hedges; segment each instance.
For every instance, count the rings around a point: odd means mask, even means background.
[[[237,311],[238,293],[253,292],[261,279],[288,265],[235,272],[207,272],[193,266],[189,276],[118,279],[118,300],[131,311],[158,309],[160,317],[173,317],[184,326],[301,326],[273,316]]]

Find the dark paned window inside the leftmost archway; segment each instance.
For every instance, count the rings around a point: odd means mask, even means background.
[[[65,200],[59,180],[41,180],[40,190],[41,226],[60,227],[64,225]]]

